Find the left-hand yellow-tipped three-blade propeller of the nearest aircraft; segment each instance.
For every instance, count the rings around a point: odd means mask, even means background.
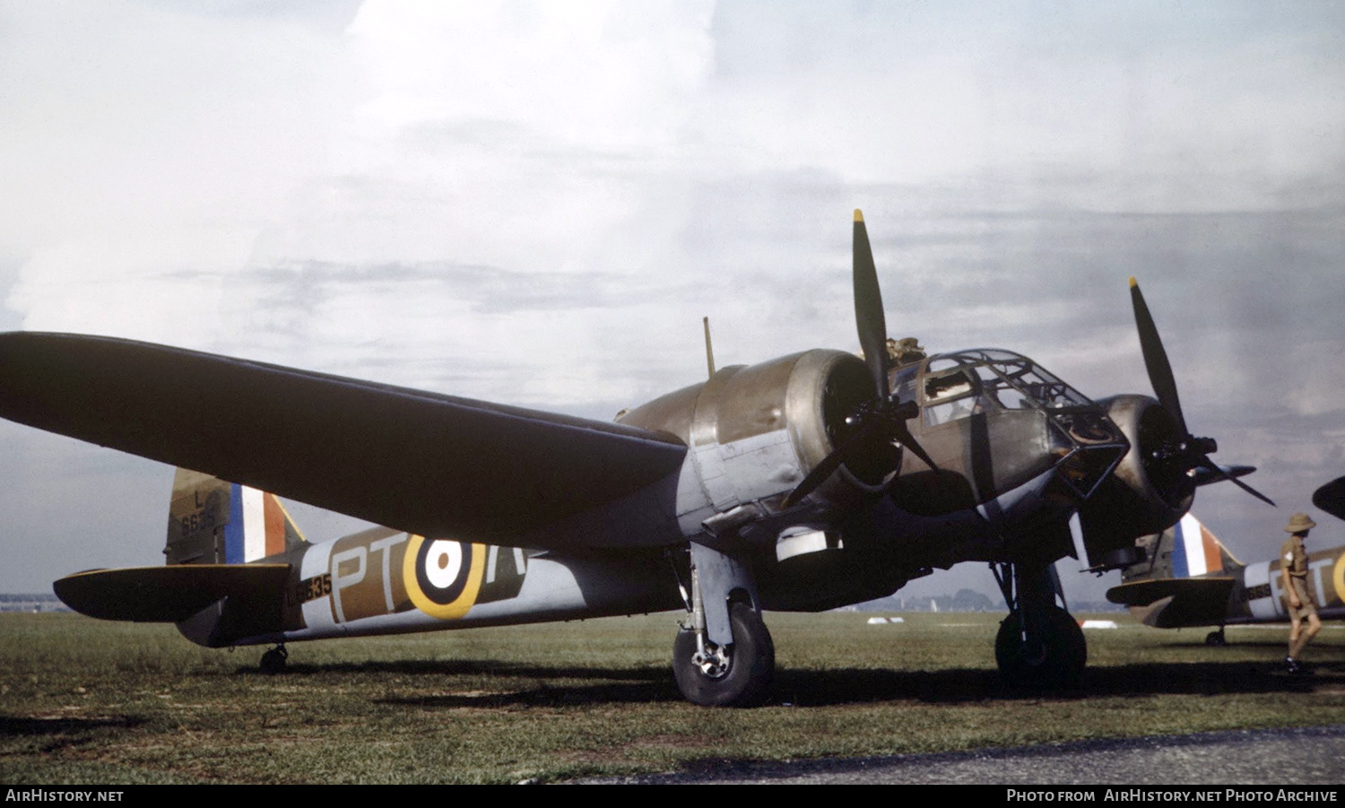
[[[873,379],[873,399],[863,402],[846,418],[847,423],[857,428],[855,432],[808,472],[808,476],[784,499],[784,507],[794,506],[812,493],[846,460],[869,452],[876,442],[898,442],[929,468],[937,468],[907,429],[907,421],[917,413],[915,402],[900,402],[892,395],[888,380],[888,323],[882,313],[882,292],[878,289],[878,272],[873,266],[869,231],[863,226],[863,214],[858,210],[854,211],[854,321],[859,331],[863,360]]]

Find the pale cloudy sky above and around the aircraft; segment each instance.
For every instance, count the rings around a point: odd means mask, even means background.
[[[857,207],[893,336],[1095,398],[1150,393],[1138,277],[1280,506],[1194,512],[1345,544],[1342,3],[0,0],[0,329],[608,419],[703,378],[702,316],[721,366],[857,350]],[[0,422],[0,592],[161,563],[171,479]]]

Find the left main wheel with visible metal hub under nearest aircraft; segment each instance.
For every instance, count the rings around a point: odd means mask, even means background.
[[[702,707],[760,704],[775,675],[775,644],[761,616],[746,604],[732,604],[733,644],[706,643],[697,652],[695,632],[681,631],[672,643],[672,676],[682,695]]]

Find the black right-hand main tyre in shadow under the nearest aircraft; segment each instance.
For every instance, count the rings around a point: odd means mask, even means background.
[[[1014,688],[1064,690],[1079,684],[1088,663],[1084,632],[1059,606],[1050,606],[1034,621],[1037,635],[1020,635],[1017,614],[1005,617],[995,635],[995,661],[999,675]]]

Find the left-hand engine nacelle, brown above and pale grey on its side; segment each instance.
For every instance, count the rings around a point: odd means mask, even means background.
[[[861,359],[815,350],[721,368],[617,421],[682,438],[716,514],[748,506],[763,516],[777,512],[784,495],[837,448],[850,430],[846,418],[872,395]],[[882,491],[893,473],[892,452],[847,461],[812,501],[842,506]],[[679,503],[679,511],[685,507]]]

